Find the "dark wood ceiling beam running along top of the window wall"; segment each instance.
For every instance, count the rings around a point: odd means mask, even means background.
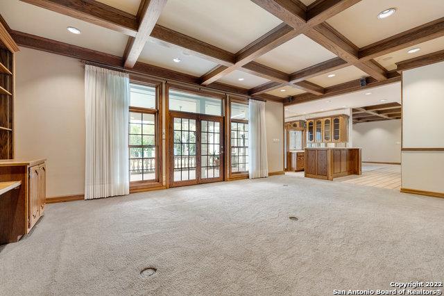
[[[48,38],[42,38],[36,35],[31,35],[28,33],[22,33],[19,31],[10,31],[10,35],[21,47],[27,47],[31,49],[37,49],[40,51],[46,51],[51,54],[58,54],[61,56],[67,56],[69,58],[78,58],[79,60],[85,60],[93,63],[99,63],[103,65],[109,65],[110,67],[116,67],[123,69],[122,58],[119,56],[113,56],[111,54],[105,54],[100,51],[94,51],[92,49],[85,49],[84,47],[77,47],[75,45],[67,44],[64,42],[59,42],[56,40],[51,40]],[[189,74],[183,74],[170,69],[165,69],[162,67],[157,67],[154,65],[149,65],[146,63],[136,63],[132,69],[126,69],[126,71],[132,74],[142,74],[148,76],[155,76],[167,81],[178,81],[181,83],[189,83],[191,85],[200,85],[200,78],[192,76]],[[213,83],[209,86],[214,90],[219,90],[223,92],[232,92],[239,95],[249,95],[248,89],[237,88],[232,85],[224,85],[222,83]],[[280,97],[272,95],[259,94],[257,96],[259,99],[269,99],[273,101],[282,102],[283,99]]]

